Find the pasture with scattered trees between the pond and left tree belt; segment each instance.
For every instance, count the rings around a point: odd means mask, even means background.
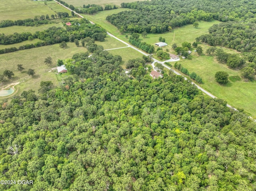
[[[71,58],[75,53],[87,51],[84,47],[76,47],[74,43],[67,44],[68,47],[66,49],[61,49],[59,44],[54,44],[1,54],[1,71],[6,69],[13,71],[14,78],[5,85],[1,85],[0,89],[10,83],[20,82],[20,84],[15,86],[17,89],[15,94],[19,95],[22,91],[27,91],[29,89],[33,89],[38,93],[37,91],[40,88],[40,81],[52,81],[54,85],[58,85],[59,82],[56,78],[56,74],[54,72],[48,73],[52,67],[56,67],[56,61],[58,59]],[[44,64],[44,59],[48,56],[52,57],[53,60],[53,65],[51,67]],[[20,71],[17,70],[18,64],[22,64],[25,71],[20,73]],[[36,72],[34,77],[31,77],[26,73],[30,68],[34,69]]]

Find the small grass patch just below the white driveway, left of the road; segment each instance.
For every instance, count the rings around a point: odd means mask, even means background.
[[[113,55],[120,55],[122,57],[121,66],[123,69],[125,69],[125,65],[128,60],[135,59],[135,58],[142,58],[142,53],[139,53],[138,51],[136,51],[130,47],[108,50],[108,52],[112,53]]]

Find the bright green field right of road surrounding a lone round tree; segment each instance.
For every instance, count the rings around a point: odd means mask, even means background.
[[[203,49],[206,49],[208,45],[201,45]],[[197,53],[192,53],[192,60],[184,59],[178,61],[183,67],[188,69],[190,73],[196,72],[197,75],[202,77],[203,83],[200,86],[206,89],[208,92],[222,98],[235,108],[244,108],[244,110],[250,114],[250,116],[256,116],[256,82],[245,82],[243,79],[239,80],[240,71],[233,70],[227,67],[227,65],[219,63],[213,56],[202,55],[198,56]],[[234,79],[226,85],[220,85],[216,83],[214,75],[217,71],[226,71],[228,75]]]

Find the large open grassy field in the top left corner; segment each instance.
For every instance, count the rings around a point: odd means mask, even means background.
[[[47,5],[44,1],[31,1],[31,0],[19,0],[19,1],[1,1],[0,7],[0,20],[23,20],[26,18],[34,18],[37,15],[51,16],[56,12],[71,12],[62,6],[59,6],[54,1],[47,1]]]

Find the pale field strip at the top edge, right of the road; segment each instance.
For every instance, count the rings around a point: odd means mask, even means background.
[[[134,0],[87,0],[87,1],[84,1],[84,0],[65,0],[65,2],[67,4],[71,4],[75,7],[79,7],[79,6],[83,6],[84,4],[85,5],[88,5],[88,4],[96,4],[96,5],[101,5],[101,6],[104,6],[104,5],[116,5],[117,7],[120,7],[121,3],[123,2],[126,2],[126,3],[129,3],[129,2],[134,2]]]

